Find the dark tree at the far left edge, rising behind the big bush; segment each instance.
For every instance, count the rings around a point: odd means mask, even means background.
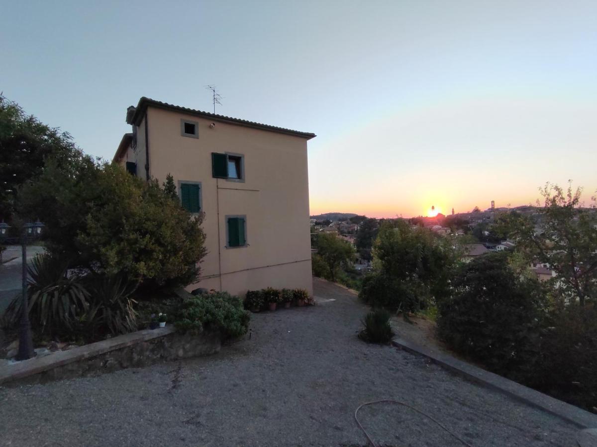
[[[80,154],[67,132],[39,122],[0,94],[0,218],[11,219],[18,188],[42,172],[48,157],[63,164]]]

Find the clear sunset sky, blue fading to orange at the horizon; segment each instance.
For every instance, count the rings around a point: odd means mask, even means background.
[[[597,189],[597,2],[0,2],[0,90],[110,159],[141,96],[300,131],[312,213]]]

